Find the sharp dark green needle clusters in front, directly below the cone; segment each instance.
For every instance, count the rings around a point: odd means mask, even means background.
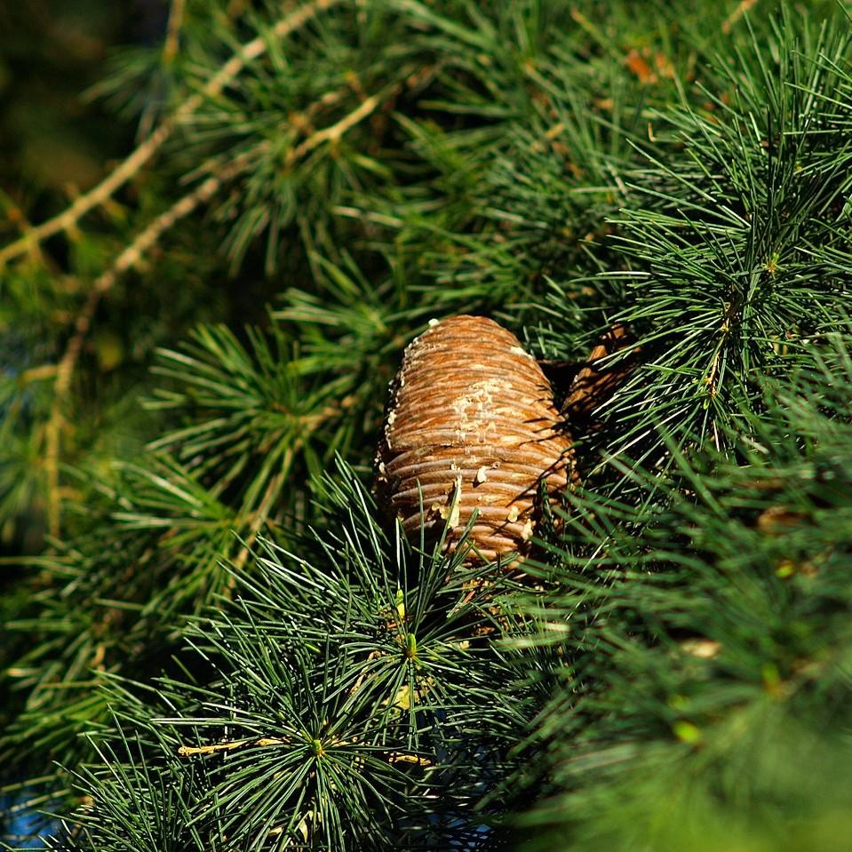
[[[266,544],[256,578],[231,575],[235,602],[187,629],[180,678],[157,689],[166,713],[108,689],[142,734],[99,746],[109,774],[77,779],[98,795],[75,817],[75,848],[100,848],[105,826],[139,831],[128,798],[175,816],[151,826],[152,850],[476,840],[462,815],[505,773],[529,701],[519,653],[473,638],[501,632],[490,601],[502,580],[462,569],[464,548],[388,541],[346,468],[328,488],[337,533],[303,543],[313,560]]]

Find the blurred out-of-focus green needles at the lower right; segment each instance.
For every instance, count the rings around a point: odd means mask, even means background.
[[[529,848],[842,848],[849,340],[771,386],[774,417],[753,424],[737,464],[678,457],[665,483],[634,470],[654,512],[573,501],[561,584],[545,609],[535,601],[542,641],[561,631],[570,665],[537,720],[547,792],[525,817],[560,825]]]

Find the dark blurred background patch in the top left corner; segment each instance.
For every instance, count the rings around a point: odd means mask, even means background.
[[[4,4],[0,173],[36,219],[63,194],[91,187],[131,142],[129,128],[82,95],[116,44],[159,39],[165,12],[154,3]]]

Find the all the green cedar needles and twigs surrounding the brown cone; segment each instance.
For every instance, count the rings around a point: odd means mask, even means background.
[[[0,225],[0,772],[49,848],[840,848],[850,21],[756,6],[172,0],[117,54],[145,156]],[[641,346],[534,583],[370,496],[461,312]]]

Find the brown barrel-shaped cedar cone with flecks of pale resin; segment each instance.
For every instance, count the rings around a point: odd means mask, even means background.
[[[418,537],[470,522],[470,561],[527,553],[539,487],[573,481],[570,435],[553,390],[518,338],[483,316],[452,316],[405,350],[378,449],[379,500]]]

